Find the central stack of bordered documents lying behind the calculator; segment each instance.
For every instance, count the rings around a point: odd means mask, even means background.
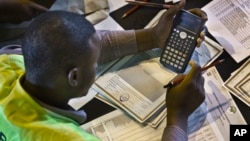
[[[160,11],[145,28],[154,26],[164,11]],[[195,49],[192,60],[205,66],[222,52],[220,45],[206,37],[202,45]],[[160,54],[160,49],[154,49],[109,63],[93,85],[100,93],[97,97],[102,100],[107,98],[140,123],[151,121],[152,126],[157,126],[165,116],[166,90],[163,85],[177,75],[160,64]]]

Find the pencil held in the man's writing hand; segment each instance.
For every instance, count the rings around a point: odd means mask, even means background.
[[[221,60],[218,60],[218,61],[216,61],[216,62],[214,62],[214,63],[211,63],[210,65],[207,65],[207,66],[205,66],[205,67],[202,67],[202,68],[201,68],[201,71],[205,71],[205,70],[207,70],[207,69],[209,69],[209,68],[211,68],[211,67],[213,67],[213,66],[215,66],[215,65],[217,65],[217,64],[220,64],[220,63],[222,63],[224,60],[225,60],[225,59],[221,59]],[[175,80],[169,82],[168,84],[164,85],[163,88],[169,88],[169,87],[172,87],[172,86],[175,86],[175,85],[179,84],[181,81],[183,81],[183,79],[185,78],[185,76],[186,76],[186,75],[183,75],[183,76],[179,77],[178,79],[175,79]]]

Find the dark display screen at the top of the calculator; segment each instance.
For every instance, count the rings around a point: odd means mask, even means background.
[[[181,16],[176,20],[179,22],[180,26],[183,26],[195,33],[200,31],[201,27],[198,25],[203,22],[201,18],[187,12],[182,12]]]

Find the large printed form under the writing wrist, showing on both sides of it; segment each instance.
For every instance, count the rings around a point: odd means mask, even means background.
[[[188,140],[228,141],[230,124],[246,124],[231,95],[222,86],[215,67],[204,73],[205,102],[189,117]],[[152,128],[132,120],[116,110],[90,121],[81,127],[102,141],[160,141],[166,119]]]

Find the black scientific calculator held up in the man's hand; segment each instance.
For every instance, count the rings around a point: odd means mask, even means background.
[[[205,22],[201,17],[185,10],[175,16],[160,57],[164,67],[176,73],[186,70]]]

